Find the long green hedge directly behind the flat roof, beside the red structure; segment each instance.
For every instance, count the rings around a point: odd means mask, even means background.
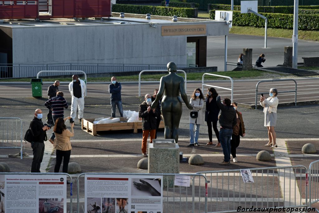
[[[162,7],[162,6],[145,6],[131,4],[113,4],[112,12],[124,12],[135,14],[150,13],[154,16],[177,16],[183,18],[193,18],[194,8]]]

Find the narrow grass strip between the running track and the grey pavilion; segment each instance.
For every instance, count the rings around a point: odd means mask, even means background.
[[[202,80],[203,74],[206,72],[195,72],[195,73],[187,73],[187,80],[192,81],[200,81]],[[246,71],[227,71],[227,72],[213,72],[212,74],[217,75],[225,75],[232,77],[234,79],[241,79],[246,77],[258,77],[262,76],[265,73],[265,71],[260,70],[246,70]],[[142,81],[159,81],[159,79],[162,76],[165,76],[167,74],[154,74],[154,75],[142,75],[141,80]],[[179,76],[184,77],[183,73],[178,73]],[[71,82],[72,78],[70,77],[43,77],[42,81],[47,82],[54,82],[55,80],[64,81],[64,82]],[[214,76],[206,76],[205,79],[211,79],[211,80],[220,80],[224,78],[220,77],[214,77]],[[9,78],[9,79],[1,79],[0,82],[30,82],[31,78]],[[118,76],[117,80],[120,82],[125,81],[138,81],[138,75],[132,75],[132,76]],[[111,77],[88,77],[88,82],[110,82]]]

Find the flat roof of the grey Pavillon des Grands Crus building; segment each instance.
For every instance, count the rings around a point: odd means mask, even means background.
[[[172,17],[166,16],[151,16],[151,19],[146,19],[146,15],[140,14],[125,14],[125,18],[120,18],[119,13],[112,13],[114,16],[110,18],[87,18],[71,19],[71,18],[54,18],[49,20],[34,20],[34,19],[14,19],[4,20],[0,22],[3,27],[50,27],[50,26],[103,26],[103,25],[136,25],[136,24],[180,24],[180,23],[212,23],[225,22],[209,19],[198,18],[178,18],[177,22],[172,20]]]

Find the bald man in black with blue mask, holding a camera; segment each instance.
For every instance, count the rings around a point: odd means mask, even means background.
[[[47,140],[47,132],[50,127],[42,123],[42,110],[36,109],[34,118],[30,123],[32,133],[31,147],[33,151],[33,159],[31,165],[31,172],[40,173],[40,166],[44,153],[44,141]]]

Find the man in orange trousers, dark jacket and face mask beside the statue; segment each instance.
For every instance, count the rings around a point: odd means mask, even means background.
[[[139,106],[138,117],[142,118],[142,129],[143,129],[143,139],[142,139],[142,155],[147,157],[146,146],[147,138],[150,135],[150,143],[153,143],[156,133],[156,117],[159,116],[157,110],[151,109],[152,99],[150,94],[145,95],[145,101]]]

